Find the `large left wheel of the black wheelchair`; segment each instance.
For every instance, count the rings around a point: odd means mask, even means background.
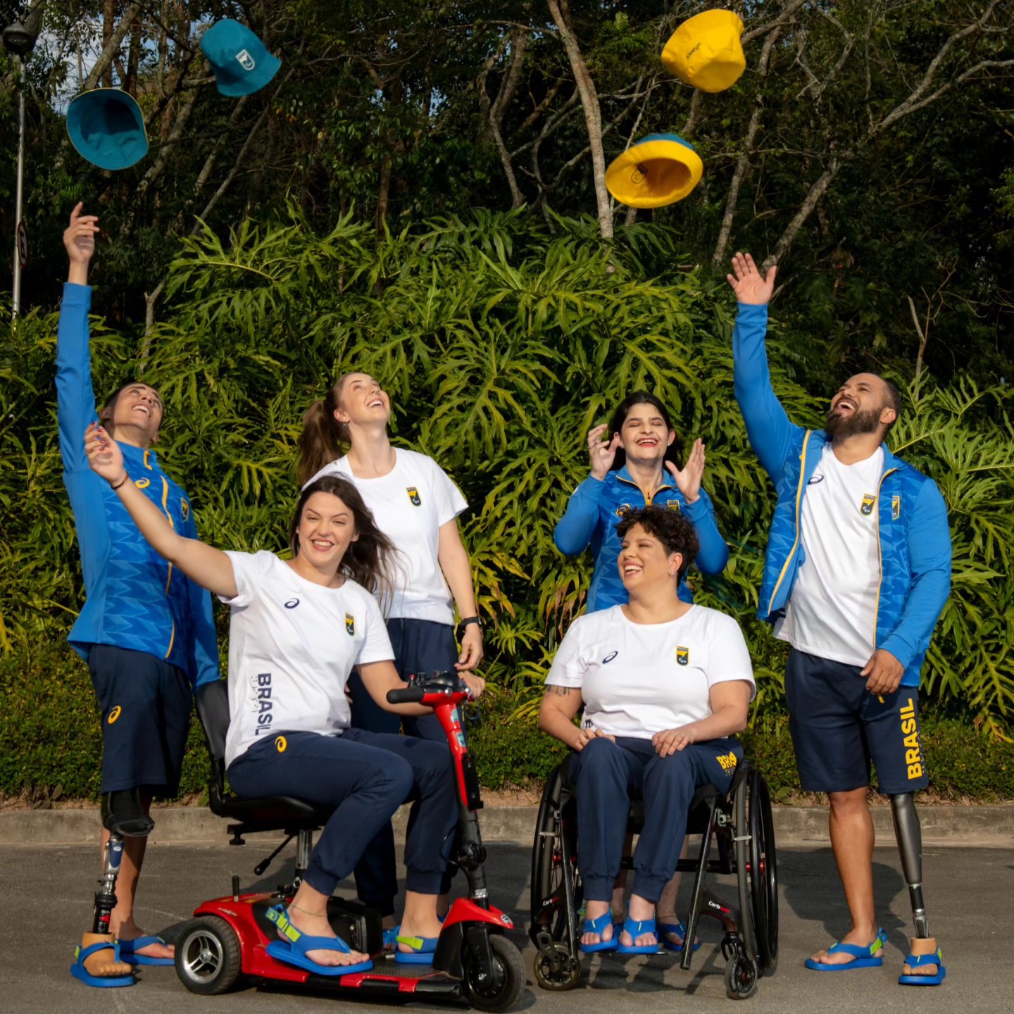
[[[535,840],[531,849],[531,925],[528,927],[528,936],[535,946],[541,946],[538,938],[544,933],[549,934],[554,942],[570,943],[565,863],[570,867],[571,883],[574,885],[574,911],[581,907],[576,849],[577,807],[573,800],[569,800],[561,810],[562,769],[563,766],[557,768],[547,781],[535,821]],[[559,821],[557,813],[560,813]],[[565,840],[567,855],[564,855]]]

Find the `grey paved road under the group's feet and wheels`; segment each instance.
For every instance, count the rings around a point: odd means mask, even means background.
[[[148,930],[171,938],[205,897],[229,890],[229,876],[239,873],[244,887],[252,867],[267,851],[221,846],[153,845],[145,869],[139,920]],[[528,910],[529,853],[525,846],[489,846],[491,896],[525,925]],[[289,853],[291,855],[291,852]],[[173,968],[147,968],[143,982],[126,990],[90,990],[68,973],[73,947],[91,911],[95,850],[81,846],[24,847],[4,850],[7,916],[0,934],[0,1010],[16,1014],[289,1014],[353,1009],[345,1001],[246,989],[223,997],[198,997],[180,985]],[[760,984],[742,1008],[725,999],[723,961],[715,928],[702,930],[704,945],[690,972],[674,957],[617,957],[586,960],[581,986],[571,993],[546,993],[531,980],[533,948],[523,931],[514,935],[524,950],[529,983],[520,1010],[537,1005],[546,1014],[644,1014],[660,1004],[684,1010],[744,1014],[806,1011],[854,1012],[869,1009],[923,1014],[934,1011],[999,1012],[1012,1009],[1010,948],[1014,942],[1014,855],[994,849],[928,850],[925,878],[932,926],[944,945],[946,983],[938,989],[896,985],[906,936],[911,925],[908,895],[893,849],[878,849],[875,860],[877,903],[890,935],[882,968],[818,974],[803,958],[845,926],[845,906],[827,850],[783,850],[782,958],[777,973]],[[278,864],[266,883],[291,875]],[[721,883],[721,881],[720,881]],[[341,893],[341,889],[339,893]],[[720,888],[720,893],[721,893]],[[734,896],[730,894],[730,899]],[[354,1003],[364,1011],[389,1010],[386,1004]],[[426,1010],[416,1005],[415,1009]],[[452,1008],[454,1009],[454,1008]]]

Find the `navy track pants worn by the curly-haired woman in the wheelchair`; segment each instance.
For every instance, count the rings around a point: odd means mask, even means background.
[[[742,747],[734,739],[691,743],[660,757],[650,739],[592,739],[571,760],[577,784],[578,866],[588,901],[608,901],[620,875],[630,805],[644,802],[634,852],[634,892],[657,901],[672,878],[694,793],[728,791]]]

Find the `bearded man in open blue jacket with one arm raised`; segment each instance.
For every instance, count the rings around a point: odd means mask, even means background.
[[[758,615],[792,645],[785,677],[799,779],[826,792],[830,840],[852,926],[806,961],[817,971],[883,963],[886,934],[873,901],[870,762],[890,797],[916,939],[899,983],[945,974],[922,897],[913,793],[928,784],[919,740],[919,679],[950,590],[947,508],[936,484],[884,440],[900,409],[874,373],[850,377],[823,431],[790,422],[775,395],[765,333],[778,269],[737,254],[729,284],[739,312],[732,348],[736,400],[778,504]]]

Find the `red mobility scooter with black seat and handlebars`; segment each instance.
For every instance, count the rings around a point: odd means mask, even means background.
[[[274,892],[242,893],[239,877],[233,876],[231,893],[197,908],[195,918],[183,927],[176,940],[176,973],[192,993],[224,993],[245,979],[255,984],[271,982],[334,992],[345,998],[367,994],[371,998],[382,995],[401,1000],[451,1001],[481,1011],[508,1011],[517,1002],[524,987],[524,966],[517,947],[504,935],[514,924],[490,904],[483,870],[486,850],[477,812],[483,804],[475,762],[465,749],[460,722],[459,706],[467,699],[467,692],[457,673],[447,672],[416,677],[406,689],[391,691],[387,699],[392,704],[412,702],[433,708],[454,758],[458,799],[454,862],[467,877],[468,897],[457,898],[451,906],[432,968],[381,958],[370,971],[319,975],[276,961],[267,953],[268,944],[278,939],[268,911],[291,900],[309,864],[313,831],[327,822],[331,812],[294,797],[238,799],[226,794],[224,755],[229,707],[226,684],[219,681],[206,683],[197,694],[198,714],[211,753],[212,812],[235,821],[228,825],[231,845],[243,845],[242,836],[254,831],[285,831],[282,845],[255,867],[257,876],[263,875],[295,838],[295,882]],[[328,916],[336,934],[353,950],[382,955],[383,929],[375,911],[333,897]]]

